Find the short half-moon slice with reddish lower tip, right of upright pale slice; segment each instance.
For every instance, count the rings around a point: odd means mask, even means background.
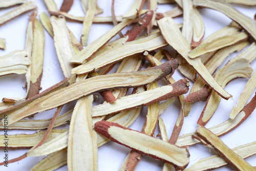
[[[204,37],[204,20],[199,10],[193,7],[193,38],[191,42],[192,49],[198,47]]]

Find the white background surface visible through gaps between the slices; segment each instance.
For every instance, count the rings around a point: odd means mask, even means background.
[[[62,1],[61,0],[55,0],[58,9],[61,6]],[[47,8],[44,4],[44,1],[42,0],[35,0],[35,3],[38,6],[38,14],[41,12],[47,12]],[[124,0],[116,0],[115,1],[115,13],[116,15],[122,15],[124,14],[127,9],[131,6],[133,1],[124,1]],[[98,4],[100,8],[104,10],[103,14],[100,14],[99,16],[111,16],[111,1],[103,1],[98,0]],[[146,6],[144,6],[145,8]],[[165,12],[170,9],[172,9],[174,6],[167,4],[167,5],[158,5],[157,12]],[[244,13],[245,15],[253,18],[256,8],[255,7],[242,7],[242,6],[234,6],[239,11]],[[5,14],[6,12],[14,9],[8,8],[8,9],[2,9],[0,10],[0,15]],[[70,14],[76,15],[76,16],[83,16],[84,13],[82,11],[82,8],[80,6],[79,0],[74,0],[74,4],[69,12]],[[201,9],[200,13],[203,15],[203,19],[205,22],[205,37],[210,35],[211,33],[229,25],[231,20],[226,17],[224,14],[210,9]],[[10,22],[4,24],[3,26],[0,26],[0,37],[6,39],[6,50],[0,50],[0,55],[6,55],[14,50],[23,50],[25,47],[25,33],[26,28],[28,24],[29,15],[31,12],[28,12],[26,14],[23,14],[22,16],[19,16]],[[37,17],[38,18],[38,17]],[[182,17],[178,17],[175,19],[177,23],[182,23]],[[76,36],[77,39],[80,40],[80,32],[82,29],[82,24],[80,23],[71,23],[67,22],[67,26],[70,28],[70,30],[73,32],[73,34]],[[104,34],[106,31],[108,31],[110,28],[112,28],[113,25],[111,24],[93,24],[89,36],[89,44],[94,41],[96,38]],[[128,27],[129,29],[131,27]],[[124,34],[126,32],[127,28],[125,28],[122,33]],[[42,77],[41,87],[42,90],[45,90],[49,87],[51,87],[53,84],[59,82],[64,78],[62,71],[60,69],[60,65],[56,56],[56,51],[53,44],[53,39],[50,37],[50,35],[45,31],[45,37],[46,37],[46,44],[45,44],[45,61],[44,61],[44,73]],[[119,38],[119,36],[115,36],[114,39]],[[172,48],[166,47],[165,49],[171,50]],[[171,50],[172,51],[172,50]],[[228,57],[228,59],[235,57],[238,53],[233,53]],[[223,65],[228,61],[225,60],[223,62]],[[163,62],[163,61],[162,61]],[[223,66],[222,65],[222,66]],[[251,67],[253,69],[256,69],[256,62],[253,61],[251,63]],[[114,70],[115,71],[115,70]],[[113,71],[113,72],[114,72]],[[175,80],[184,78],[178,71],[174,74]],[[222,123],[223,121],[227,120],[229,118],[229,112],[232,109],[232,106],[234,106],[237,102],[237,99],[242,92],[248,78],[246,79],[236,79],[231,81],[226,87],[225,90],[233,95],[232,99],[229,99],[228,101],[222,99],[221,103],[215,112],[214,116],[211,118],[209,123],[206,125],[206,127],[211,127],[213,125]],[[26,94],[24,87],[26,82],[25,75],[7,75],[0,77],[0,99],[3,97],[23,97]],[[193,84],[190,81],[191,84]],[[164,81],[160,81],[159,86],[162,86],[165,84]],[[255,93],[255,90],[253,94]],[[252,97],[252,96],[251,96]],[[250,98],[251,99],[251,98]],[[249,99],[249,100],[250,100]],[[102,101],[102,99],[101,99]],[[61,114],[68,111],[68,109],[72,108],[74,106],[75,102],[72,102],[68,105],[65,105],[65,107],[62,109]],[[190,132],[194,132],[197,128],[197,120],[201,114],[201,111],[204,108],[205,101],[197,102],[193,105],[188,117],[184,119],[184,125],[181,130],[181,134],[186,134]],[[169,108],[161,115],[161,118],[163,118],[163,121],[166,125],[166,130],[168,133],[168,137],[172,134],[173,126],[176,122],[177,116],[179,114],[179,104],[178,102],[175,102]],[[50,118],[54,114],[54,109],[35,115],[35,119],[45,119]],[[146,116],[146,108],[143,107],[143,110],[138,117],[138,119],[130,126],[131,129],[134,130],[141,130],[141,127],[144,123]],[[237,129],[233,130],[231,133],[221,137],[221,139],[228,145],[230,148],[236,147],[238,145],[242,145],[245,143],[249,143],[252,141],[256,141],[256,134],[254,131],[256,121],[256,112],[254,111],[251,116],[244,121]],[[11,134],[32,134],[33,131],[26,131],[26,130],[20,130],[20,131],[11,131],[9,130],[9,135]],[[0,132],[0,134],[3,134],[3,131]],[[156,129],[155,135],[158,134],[158,129]],[[0,140],[0,143],[3,143],[2,140]],[[8,153],[9,160],[16,158],[20,155],[23,155],[27,150],[10,150]],[[109,142],[108,144],[105,144],[104,146],[100,147],[98,149],[98,164],[99,164],[99,170],[119,170],[124,158],[126,155],[130,152],[130,149],[127,147],[124,147],[122,145],[119,145],[117,143]],[[216,154],[213,150],[209,152],[209,149],[207,147],[204,147],[202,144],[196,144],[189,147],[189,153],[190,153],[190,163],[188,167],[197,162],[200,158],[211,156]],[[1,160],[4,157],[4,152],[0,151],[0,158]],[[32,168],[36,163],[38,163],[42,158],[44,157],[28,157],[22,161],[18,161],[15,163],[8,164],[8,168],[4,166],[0,166],[0,170],[29,170]],[[256,157],[249,157],[246,159],[250,164],[253,166],[256,166]],[[137,165],[136,170],[161,170],[161,167],[163,165],[163,162],[156,161],[152,159],[151,157],[144,156]],[[217,170],[232,170],[232,167],[223,167],[219,168]],[[67,165],[63,166],[57,170],[67,170]]]

